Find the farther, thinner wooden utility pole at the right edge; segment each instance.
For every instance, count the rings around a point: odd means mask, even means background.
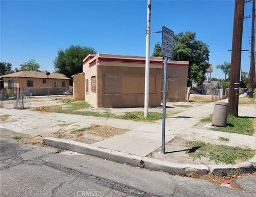
[[[252,0],[252,35],[251,35],[251,62],[250,62],[250,97],[254,92],[255,62],[254,62],[254,29],[255,29],[255,0]]]

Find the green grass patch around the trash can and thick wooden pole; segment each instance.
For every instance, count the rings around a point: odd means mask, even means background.
[[[201,122],[211,122],[212,115],[201,120]],[[237,133],[244,135],[253,135],[255,118],[251,117],[234,117],[228,116],[226,127],[213,127],[210,130],[217,130],[218,132]]]

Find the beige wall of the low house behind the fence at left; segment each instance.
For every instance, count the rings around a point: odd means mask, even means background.
[[[13,80],[13,87],[27,87],[27,81],[33,81],[33,88],[35,87],[53,87],[53,81],[57,81],[57,87],[62,87],[62,81],[65,81],[65,87],[69,87],[69,79],[49,79],[49,78],[29,78],[29,77],[3,77],[4,86],[8,86],[8,80]],[[46,83],[43,84],[43,79],[46,79]]]

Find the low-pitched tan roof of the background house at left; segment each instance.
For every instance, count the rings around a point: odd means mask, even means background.
[[[2,75],[1,77],[30,77],[30,78],[49,78],[49,79],[69,79],[66,75],[61,73],[50,73],[49,76],[46,75],[46,72],[38,71],[20,71],[14,72],[7,75]]]

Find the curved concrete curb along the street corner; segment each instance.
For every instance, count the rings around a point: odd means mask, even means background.
[[[166,173],[180,175],[188,175],[189,173],[206,174],[223,174],[230,173],[251,173],[256,170],[256,155],[249,161],[231,165],[191,165],[183,163],[171,163],[153,158],[141,157],[134,154],[118,152],[110,149],[103,149],[95,145],[85,144],[81,142],[71,141],[68,139],[59,139],[53,137],[45,137],[43,143],[58,147],[63,150],[70,150],[82,154],[92,155],[101,159],[107,159],[118,163],[126,163],[127,165],[142,167],[150,170],[163,170]]]

